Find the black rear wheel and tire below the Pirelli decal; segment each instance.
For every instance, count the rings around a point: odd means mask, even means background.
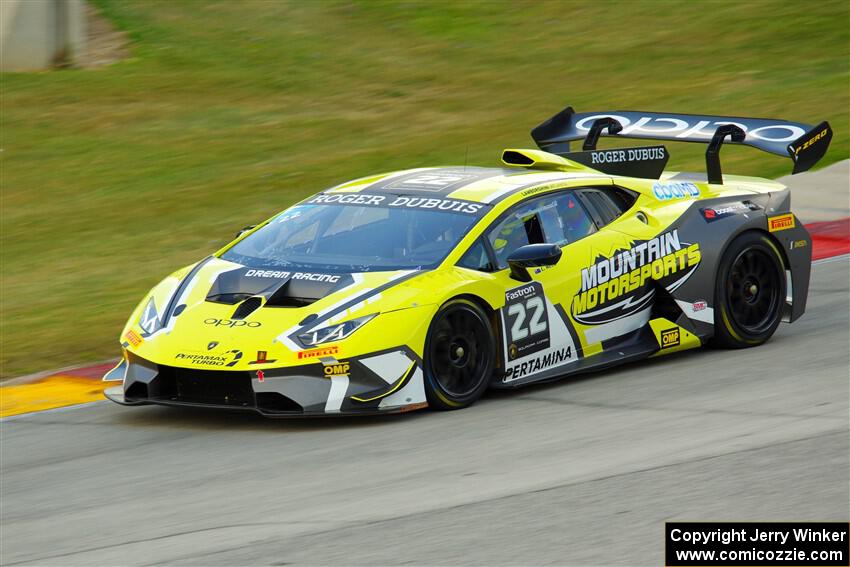
[[[717,271],[714,343],[747,348],[766,342],[782,319],[785,267],[769,236],[746,232],[732,241]]]

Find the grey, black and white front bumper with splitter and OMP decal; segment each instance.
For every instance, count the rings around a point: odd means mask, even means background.
[[[258,412],[267,417],[374,415],[427,406],[422,363],[399,348],[345,361],[232,371],[158,365],[130,355],[104,379],[122,405],[159,404]]]

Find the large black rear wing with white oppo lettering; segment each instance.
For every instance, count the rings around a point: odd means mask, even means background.
[[[600,135],[708,144],[705,155],[708,181],[722,183],[719,156],[724,143],[751,146],[789,157],[794,162],[792,173],[800,173],[810,169],[826,153],[832,129],[828,122],[812,127],[787,120],[735,116],[632,110],[577,113],[568,106],[531,131],[531,137],[541,150],[579,158],[577,161],[582,162],[587,156],[581,154],[595,151]],[[585,152],[570,152],[570,142],[575,140],[584,140]],[[604,171],[604,167],[599,169]]]

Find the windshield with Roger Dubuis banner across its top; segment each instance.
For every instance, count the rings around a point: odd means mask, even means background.
[[[282,212],[221,257],[252,268],[368,272],[434,267],[484,209],[456,199],[320,194]]]

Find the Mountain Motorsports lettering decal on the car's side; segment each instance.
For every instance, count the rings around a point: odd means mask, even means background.
[[[573,299],[573,318],[600,325],[644,309],[652,300],[649,280],[665,283],[689,276],[702,258],[699,244],[679,241],[674,229],[631,248],[601,257],[581,270],[581,290]]]

